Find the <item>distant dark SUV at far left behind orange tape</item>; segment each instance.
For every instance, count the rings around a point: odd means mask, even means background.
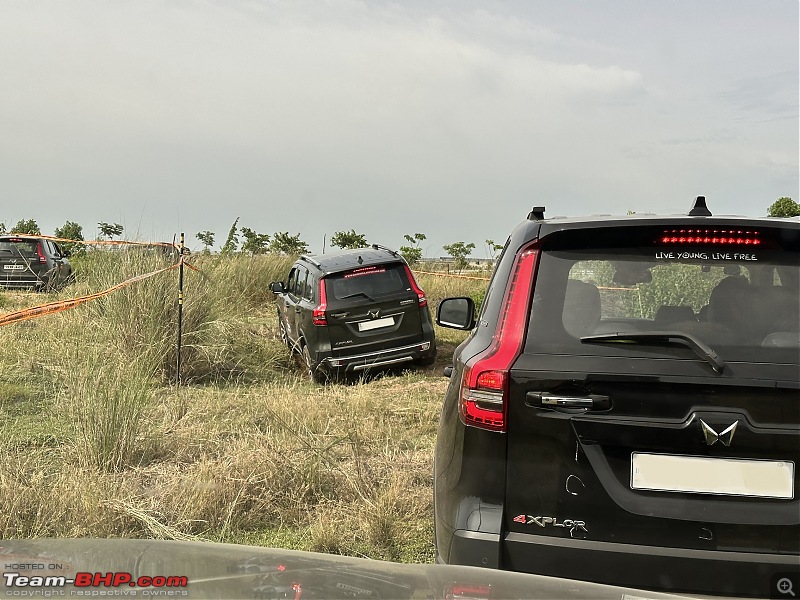
[[[46,238],[0,236],[0,287],[52,291],[72,279],[69,252]]]

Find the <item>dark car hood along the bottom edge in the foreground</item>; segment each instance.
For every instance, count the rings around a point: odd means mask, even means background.
[[[674,596],[476,567],[409,565],[360,558],[164,540],[20,540],[0,542],[6,596],[170,598],[591,598]],[[18,573],[27,581],[9,577]],[[59,578],[84,585],[58,584]],[[109,574],[130,583],[106,585]],[[139,577],[185,577],[186,587],[139,587]],[[39,577],[39,580],[33,580]],[[49,582],[46,578],[51,577]],[[97,587],[85,581],[97,578]],[[44,580],[44,581],[43,581]],[[15,585],[23,582],[25,585]],[[10,583],[10,585],[9,585]],[[175,581],[173,581],[175,583]],[[54,593],[50,593],[50,592]]]

